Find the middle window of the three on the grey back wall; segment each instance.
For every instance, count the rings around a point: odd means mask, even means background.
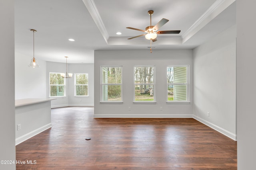
[[[155,102],[155,66],[134,66],[134,102]]]

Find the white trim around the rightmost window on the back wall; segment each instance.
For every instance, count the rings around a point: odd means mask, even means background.
[[[190,72],[189,72],[189,65],[167,65],[166,66],[166,69],[167,67],[187,67],[187,83],[176,83],[176,84],[187,84],[187,100],[184,100],[184,101],[168,101],[168,94],[166,94],[166,103],[167,104],[186,104],[186,103],[190,103],[190,96],[189,96],[189,92],[190,92],[190,80],[189,80],[189,77],[190,77]],[[167,74],[167,73],[166,73]],[[167,75],[166,75],[167,76]],[[167,82],[167,81],[166,81]],[[166,83],[166,88],[168,88],[168,85],[169,84],[174,84],[174,83]]]

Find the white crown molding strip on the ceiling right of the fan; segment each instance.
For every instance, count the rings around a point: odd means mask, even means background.
[[[195,35],[200,29],[202,29],[206,24],[212,21],[216,16],[218,16],[222,11],[224,11],[228,6],[230,6],[236,0],[216,0],[206,12],[194,24],[182,35],[182,43],[185,43],[193,35]]]

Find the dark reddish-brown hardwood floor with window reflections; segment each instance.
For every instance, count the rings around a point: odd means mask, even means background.
[[[16,169],[237,169],[236,141],[195,119],[93,118],[93,113],[93,107],[52,109],[53,127],[16,146],[16,160],[26,161]]]

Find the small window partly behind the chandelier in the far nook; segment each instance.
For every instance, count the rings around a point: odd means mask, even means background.
[[[50,97],[65,96],[65,80],[61,73],[50,72]]]

